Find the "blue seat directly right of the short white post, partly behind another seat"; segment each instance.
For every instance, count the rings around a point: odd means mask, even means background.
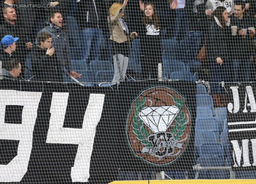
[[[170,79],[170,75],[174,71],[186,71],[186,65],[182,61],[163,61],[164,75]]]

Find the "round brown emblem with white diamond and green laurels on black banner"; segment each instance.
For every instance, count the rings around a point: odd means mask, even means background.
[[[134,155],[152,165],[176,161],[190,139],[191,115],[186,98],[157,86],[144,90],[132,102],[126,133]]]

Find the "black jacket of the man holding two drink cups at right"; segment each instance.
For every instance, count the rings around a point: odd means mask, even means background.
[[[253,51],[252,41],[254,37],[249,36],[249,31],[247,30],[246,38],[242,38],[238,34],[240,29],[247,29],[248,27],[253,27],[253,23],[250,16],[244,14],[242,19],[236,18],[236,16],[230,16],[231,25],[236,25],[238,27],[236,36],[232,36],[232,48],[233,48],[233,57],[235,59],[250,59]]]

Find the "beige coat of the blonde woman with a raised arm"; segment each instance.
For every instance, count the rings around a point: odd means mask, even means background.
[[[120,15],[122,14],[122,11],[124,11],[124,8],[125,7],[121,6],[114,16],[110,16],[111,24],[108,17],[108,26],[111,34],[110,40],[113,40],[114,38],[114,41],[117,43],[123,43],[127,41],[128,44],[130,44],[130,39],[134,39],[135,36],[132,33],[130,33],[129,37],[126,36],[126,33],[124,32],[124,29],[119,22]]]

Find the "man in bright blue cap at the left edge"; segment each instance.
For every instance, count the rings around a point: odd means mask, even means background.
[[[11,35],[5,35],[1,39],[0,60],[3,63],[3,68],[4,68],[6,61],[8,61],[10,59],[15,59],[13,52],[15,52],[15,50],[16,50],[16,41],[18,39],[19,39],[18,37],[14,38]]]

